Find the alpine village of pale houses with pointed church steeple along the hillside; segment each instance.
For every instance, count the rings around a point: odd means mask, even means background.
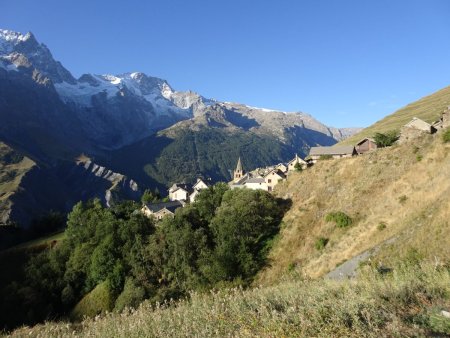
[[[442,113],[440,119],[432,124],[414,117],[401,128],[396,142],[402,144],[424,134],[435,134],[448,127],[450,127],[450,106]],[[286,181],[292,172],[312,167],[319,160],[349,158],[375,151],[377,148],[375,139],[370,137],[363,138],[354,146],[311,147],[309,155],[305,159],[295,154],[288,163],[278,163],[249,172],[244,170],[239,157],[233,172],[233,179],[228,182],[228,186],[230,189],[245,188],[272,192],[275,186]],[[164,217],[173,217],[176,209],[182,208],[188,203],[195,203],[199,192],[208,189],[210,185],[208,180],[202,178],[198,178],[194,185],[175,183],[168,190],[168,202],[144,203],[141,212],[158,221]]]

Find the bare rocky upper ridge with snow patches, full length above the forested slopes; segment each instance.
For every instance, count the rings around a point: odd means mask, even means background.
[[[140,72],[84,74],[75,79],[32,33],[0,30],[0,68],[28,72],[35,82],[53,87],[82,132],[100,149],[120,148],[183,120],[191,126],[204,121],[209,126],[252,129],[284,141],[290,130],[298,128],[336,140],[346,136],[308,114],[217,102],[191,91],[175,91],[167,81]]]

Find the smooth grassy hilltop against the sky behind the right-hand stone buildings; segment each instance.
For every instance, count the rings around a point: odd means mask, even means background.
[[[400,129],[413,117],[421,118],[426,122],[434,122],[439,119],[441,113],[450,106],[450,86],[437,91],[429,96],[408,104],[384,119],[376,122],[361,132],[340,142],[341,145],[356,144],[364,137],[372,137],[375,133],[383,133],[393,129]]]

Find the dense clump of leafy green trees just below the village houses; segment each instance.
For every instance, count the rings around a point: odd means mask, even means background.
[[[131,201],[112,208],[98,200],[78,203],[65,239],[34,256],[23,280],[1,290],[2,326],[77,320],[144,299],[246,286],[265,264],[286,202],[218,183],[159,223],[139,207]]]

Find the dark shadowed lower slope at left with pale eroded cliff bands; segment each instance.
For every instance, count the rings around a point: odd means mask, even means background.
[[[8,196],[0,198],[0,224],[27,227],[50,210],[68,212],[80,200],[99,198],[111,206],[120,200],[139,200],[141,191],[133,180],[85,162],[60,162],[52,167],[32,165],[12,180]]]

